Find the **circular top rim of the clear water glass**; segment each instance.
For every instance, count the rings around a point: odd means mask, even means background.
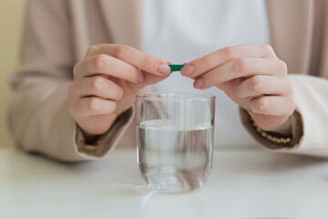
[[[169,97],[169,95],[174,97]],[[164,96],[164,97],[163,97]],[[166,97],[165,97],[166,96]],[[138,93],[137,99],[147,99],[147,100],[210,100],[215,99],[214,95],[211,94],[201,94],[196,92],[145,92]]]

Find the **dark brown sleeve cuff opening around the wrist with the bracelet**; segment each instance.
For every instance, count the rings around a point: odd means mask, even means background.
[[[251,134],[251,137],[257,141],[257,143],[266,150],[269,151],[291,151],[299,146],[299,142],[303,136],[303,124],[302,124],[302,116],[300,112],[296,109],[290,116],[289,120],[292,125],[292,141],[289,144],[277,144],[273,143],[272,141],[268,141],[267,139],[263,138],[261,134],[254,129],[252,126],[252,122],[250,120],[251,116],[247,112],[247,110],[243,110],[240,108],[240,116],[241,116],[241,123],[245,127],[245,129]],[[273,133],[273,132],[271,132]]]

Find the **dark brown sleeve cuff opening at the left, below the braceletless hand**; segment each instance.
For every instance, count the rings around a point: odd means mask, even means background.
[[[129,121],[132,119],[134,113],[133,107],[124,111],[122,114],[118,116],[118,118],[114,121],[110,129],[99,136],[97,141],[93,144],[86,144],[85,137],[81,128],[77,125],[77,135],[76,135],[76,143],[77,143],[77,151],[80,153],[85,153],[89,156],[102,157],[104,156],[110,149],[114,148],[115,145],[111,145],[107,143],[110,139],[117,137],[118,131],[124,131],[124,126],[128,126]],[[115,143],[113,143],[115,144]]]

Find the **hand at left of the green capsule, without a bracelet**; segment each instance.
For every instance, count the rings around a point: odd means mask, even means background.
[[[97,136],[132,106],[140,89],[168,78],[170,68],[136,48],[105,44],[89,47],[73,74],[70,114],[85,135]]]

